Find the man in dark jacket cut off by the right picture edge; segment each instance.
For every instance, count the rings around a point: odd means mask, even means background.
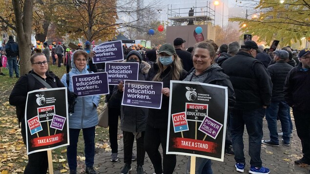
[[[310,49],[299,52],[298,66],[289,71],[284,83],[284,98],[293,108],[297,135],[301,140],[303,157],[295,164],[310,164]]]

